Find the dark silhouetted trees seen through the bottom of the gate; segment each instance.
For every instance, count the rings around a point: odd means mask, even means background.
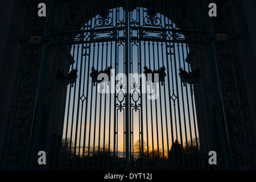
[[[143,146],[142,146],[143,145]],[[124,165],[124,158],[114,154],[112,146],[105,143],[102,147],[80,148],[74,147],[71,139],[62,139],[53,146],[54,150],[51,152],[50,165],[51,169],[76,169],[91,168],[97,169],[111,169],[111,167],[122,168]],[[53,152],[54,151],[54,152]],[[163,150],[162,148],[154,148],[148,146],[146,142],[137,140],[133,146],[133,166],[140,168],[142,166],[152,168],[171,167],[174,169],[197,168],[204,162],[200,150],[199,139],[193,138],[187,142],[180,143],[175,140],[171,148]],[[83,153],[84,155],[82,155]],[[204,157],[203,157],[204,158]]]

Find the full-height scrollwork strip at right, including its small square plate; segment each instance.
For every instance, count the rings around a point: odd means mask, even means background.
[[[220,2],[220,1],[217,1]],[[224,104],[224,114],[228,123],[227,130],[229,131],[229,139],[232,141],[232,158],[236,164],[236,168],[247,170],[251,167],[249,160],[250,155],[250,140],[249,130],[246,129],[246,106],[242,101],[240,93],[240,85],[242,82],[237,78],[237,63],[232,53],[232,45],[225,37],[226,34],[218,32],[229,32],[228,22],[225,17],[225,9],[218,8],[218,16],[213,19],[213,30],[216,32],[216,51],[217,51],[217,66],[220,72],[218,73],[221,81],[222,102]],[[226,41],[226,42],[225,42]]]

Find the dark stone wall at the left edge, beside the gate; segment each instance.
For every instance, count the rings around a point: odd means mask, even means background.
[[[0,1],[0,160],[5,149],[6,133],[10,132],[9,116],[22,45],[20,38],[23,37],[26,26],[26,5],[25,1]]]

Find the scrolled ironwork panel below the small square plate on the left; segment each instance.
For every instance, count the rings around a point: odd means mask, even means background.
[[[28,47],[28,55],[24,60],[24,73],[22,87],[17,100],[16,112],[14,114],[14,130],[11,135],[9,147],[9,168],[12,170],[21,170],[26,156],[26,147],[28,135],[30,132],[31,118],[33,118],[33,109],[36,100],[36,80],[39,74],[39,59],[41,49],[39,46]]]

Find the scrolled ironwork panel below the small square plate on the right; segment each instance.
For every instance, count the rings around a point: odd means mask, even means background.
[[[222,27],[223,28],[223,27]],[[222,92],[225,102],[226,116],[229,123],[230,139],[233,144],[233,158],[237,169],[249,169],[250,160],[246,158],[250,150],[249,141],[246,139],[245,118],[243,104],[240,101],[240,92],[237,85],[236,73],[233,67],[233,56],[229,53],[229,45],[217,44],[218,65],[222,82]]]

